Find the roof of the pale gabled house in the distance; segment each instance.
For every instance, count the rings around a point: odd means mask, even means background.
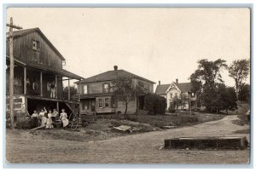
[[[155,89],[156,95],[166,95],[167,89],[171,86],[172,83],[158,85]],[[177,88],[180,89],[183,93],[187,93],[192,89],[192,83],[175,83]]]

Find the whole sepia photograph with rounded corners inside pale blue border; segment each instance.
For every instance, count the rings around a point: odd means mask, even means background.
[[[7,8],[5,162],[249,165],[252,12]]]

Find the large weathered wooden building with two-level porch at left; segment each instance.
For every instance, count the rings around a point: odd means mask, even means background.
[[[6,43],[6,114],[9,116],[9,42]],[[39,28],[13,32],[15,117],[62,108],[79,113],[79,100],[63,98],[63,81],[83,79],[63,69],[66,60]],[[54,92],[53,92],[54,91]]]

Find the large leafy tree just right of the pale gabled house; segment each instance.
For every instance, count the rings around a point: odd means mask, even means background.
[[[189,77],[192,83],[192,92],[197,94],[197,99],[202,101],[208,111],[218,112],[218,83],[223,83],[221,72],[227,68],[225,60],[198,61],[198,67]],[[197,102],[195,102],[197,103]]]

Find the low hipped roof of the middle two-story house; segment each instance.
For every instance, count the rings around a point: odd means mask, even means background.
[[[96,83],[96,82],[101,82],[101,81],[113,81],[114,79],[117,78],[117,76],[119,77],[131,77],[131,78],[137,78],[137,79],[141,79],[145,82],[148,83],[154,83],[153,81],[150,81],[144,77],[139,77],[131,72],[127,72],[125,70],[117,70],[117,71],[108,71],[108,72],[103,72],[100,73],[98,75],[95,75],[93,77],[88,77],[85,78],[84,80],[81,81],[81,83]],[[76,82],[78,83],[78,82]]]

